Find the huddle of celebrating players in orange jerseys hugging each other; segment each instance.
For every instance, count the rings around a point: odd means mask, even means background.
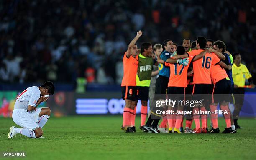
[[[123,111],[123,129],[126,133],[136,132],[135,117],[138,100],[141,100],[141,126],[143,132],[148,133],[220,133],[218,128],[217,106],[225,112],[226,128],[222,133],[236,133],[239,126],[233,120],[229,103],[233,100],[233,57],[226,50],[223,41],[206,40],[197,37],[190,42],[184,39],[182,45],[177,46],[172,40],[164,40],[163,44],[143,42],[138,49],[136,42],[142,32],[130,42],[128,50],[123,56],[122,97],[125,100]],[[153,52],[154,51],[154,52]],[[150,108],[148,115],[148,95],[151,76],[155,76],[154,65],[159,73],[155,84],[155,94],[151,101],[165,100],[204,100],[203,105],[190,106],[161,106],[161,110],[175,111],[177,114],[159,115]],[[246,77],[251,80],[248,72]],[[251,82],[251,81],[250,81]],[[151,102],[150,102],[151,103]],[[184,115],[182,111],[192,111],[186,117],[186,128],[183,130]],[[208,130],[207,111],[210,111],[211,129]],[[239,115],[239,112],[238,112]],[[160,119],[163,119],[158,126]],[[191,129],[192,122],[195,129]],[[201,121],[201,126],[200,126]],[[235,120],[237,122],[237,120]]]

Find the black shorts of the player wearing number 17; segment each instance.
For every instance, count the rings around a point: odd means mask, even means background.
[[[168,87],[167,95],[171,100],[185,100],[185,87]]]

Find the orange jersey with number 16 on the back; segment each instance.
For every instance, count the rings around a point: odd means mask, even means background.
[[[195,57],[199,55],[202,49],[192,50],[189,56]],[[194,79],[193,84],[212,84],[211,65],[220,62],[220,58],[214,53],[206,53],[204,57],[193,62]]]

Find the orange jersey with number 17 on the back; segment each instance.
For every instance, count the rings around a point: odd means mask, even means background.
[[[190,57],[189,59],[192,60],[192,57]],[[187,66],[184,66],[177,63],[164,63],[166,66],[170,67],[168,87],[187,87],[187,70],[189,68],[189,64]]]

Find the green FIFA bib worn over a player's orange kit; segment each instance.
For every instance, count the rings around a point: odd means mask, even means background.
[[[138,56],[138,70],[136,75],[136,85],[149,87],[151,80],[151,72],[153,70],[153,60],[151,57]]]

